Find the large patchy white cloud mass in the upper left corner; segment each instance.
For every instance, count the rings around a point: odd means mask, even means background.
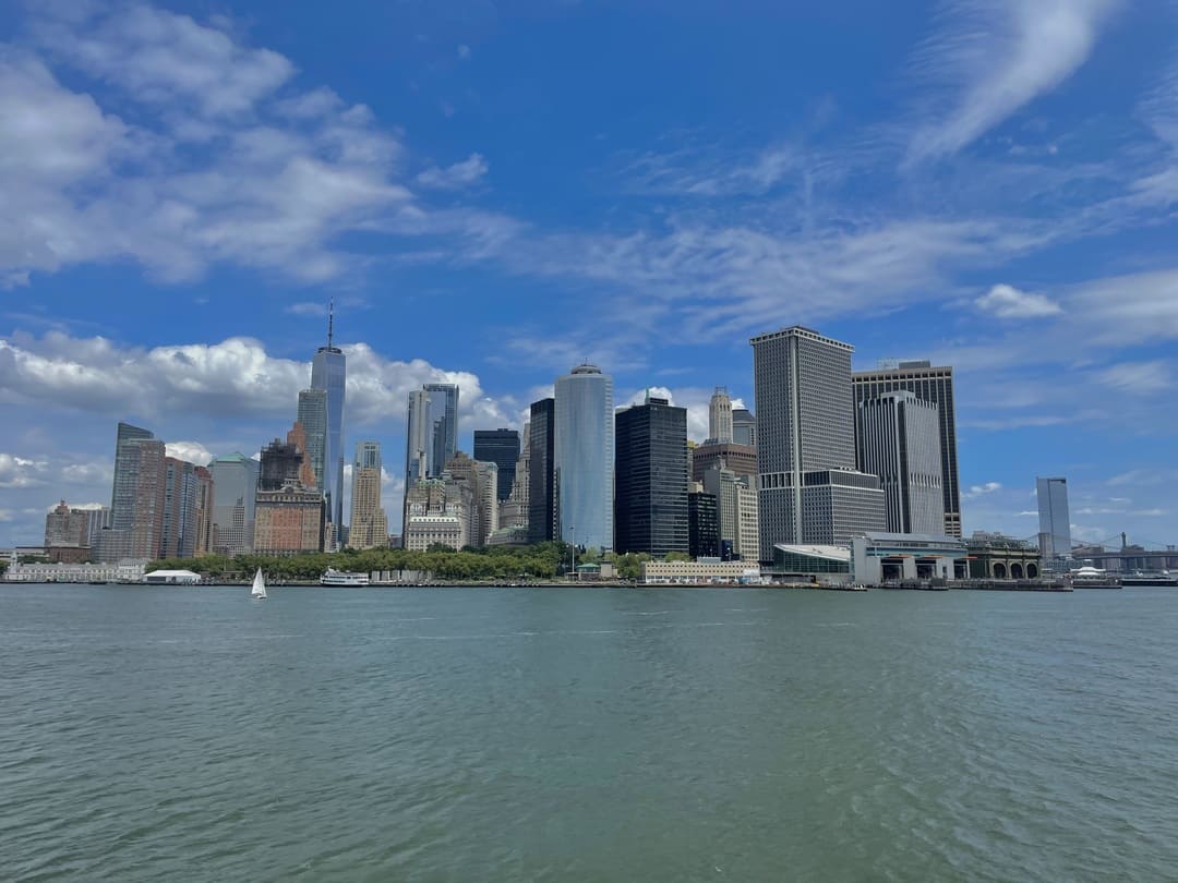
[[[0,280],[112,258],[168,281],[218,263],[300,281],[363,266],[336,240],[412,199],[395,180],[399,140],[368,107],[322,89],[279,98],[290,61],[190,16],[87,8],[101,12],[34,15],[39,54],[0,59],[12,135]],[[107,86],[134,124],[64,85],[45,57]]]

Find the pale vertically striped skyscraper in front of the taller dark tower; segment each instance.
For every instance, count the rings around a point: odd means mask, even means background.
[[[945,532],[941,434],[937,405],[908,391],[865,399],[855,411],[859,469],[884,484],[893,533]]]

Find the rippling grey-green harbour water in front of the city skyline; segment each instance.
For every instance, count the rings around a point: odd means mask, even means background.
[[[1178,591],[5,585],[0,879],[1178,879]]]

